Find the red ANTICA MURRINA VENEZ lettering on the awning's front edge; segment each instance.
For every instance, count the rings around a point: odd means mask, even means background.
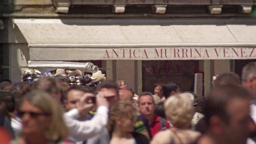
[[[250,59],[256,58],[255,48],[113,48],[106,49],[104,59]]]

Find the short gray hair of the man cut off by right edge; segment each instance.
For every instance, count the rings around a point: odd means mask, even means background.
[[[256,62],[246,64],[242,70],[242,81],[247,82],[248,78],[256,78]]]

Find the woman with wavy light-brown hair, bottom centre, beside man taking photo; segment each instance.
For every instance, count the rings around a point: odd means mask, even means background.
[[[119,102],[109,113],[110,144],[148,144],[146,136],[134,132],[137,110],[128,102]]]

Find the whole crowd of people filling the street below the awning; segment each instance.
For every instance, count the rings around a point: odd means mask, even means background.
[[[95,89],[62,75],[0,83],[0,144],[255,143],[256,62],[241,80],[217,76],[207,96],[172,81],[137,95],[103,74]]]

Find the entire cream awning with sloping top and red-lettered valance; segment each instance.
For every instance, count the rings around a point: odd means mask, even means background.
[[[30,60],[256,58],[256,20],[14,19]]]

